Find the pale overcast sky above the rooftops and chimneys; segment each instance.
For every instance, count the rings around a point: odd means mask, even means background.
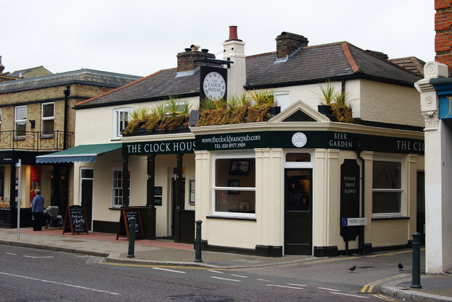
[[[281,32],[309,45],[347,41],[390,58],[434,60],[434,0],[0,0],[5,71],[44,66],[149,75],[191,44],[222,59],[229,25],[246,55]]]

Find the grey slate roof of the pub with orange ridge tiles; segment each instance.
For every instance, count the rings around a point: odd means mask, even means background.
[[[275,52],[246,57],[246,89],[321,83],[327,79],[367,78],[413,87],[421,77],[348,42],[302,47],[285,60]],[[177,69],[157,71],[124,87],[87,99],[76,108],[102,107],[199,95],[199,71],[177,76]]]

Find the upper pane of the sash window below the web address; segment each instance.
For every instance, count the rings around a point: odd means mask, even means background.
[[[237,179],[240,187],[256,186],[256,159],[217,159],[215,161],[215,186],[227,187],[230,179]]]

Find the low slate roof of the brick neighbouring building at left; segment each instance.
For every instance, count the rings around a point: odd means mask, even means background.
[[[66,73],[55,73],[42,75],[35,78],[24,78],[0,83],[0,94],[34,90],[46,87],[85,84],[102,87],[120,87],[133,80],[141,78],[136,75],[124,75],[121,73],[109,73],[106,71],[95,71],[92,69],[80,69]]]

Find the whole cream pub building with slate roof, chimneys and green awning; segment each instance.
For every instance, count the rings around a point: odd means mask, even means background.
[[[201,220],[206,250],[332,256],[410,244],[423,228],[422,75],[348,42],[308,46],[289,32],[276,42],[246,56],[231,26],[221,59],[187,48],[177,68],[76,104],[76,147],[41,160],[74,163],[91,230],[117,232],[133,207],[148,239],[193,243]],[[351,96],[352,123],[319,112],[326,85]],[[270,91],[280,113],[266,121],[198,126],[206,96]],[[193,106],[189,126],[122,132],[131,111],[168,98]]]

